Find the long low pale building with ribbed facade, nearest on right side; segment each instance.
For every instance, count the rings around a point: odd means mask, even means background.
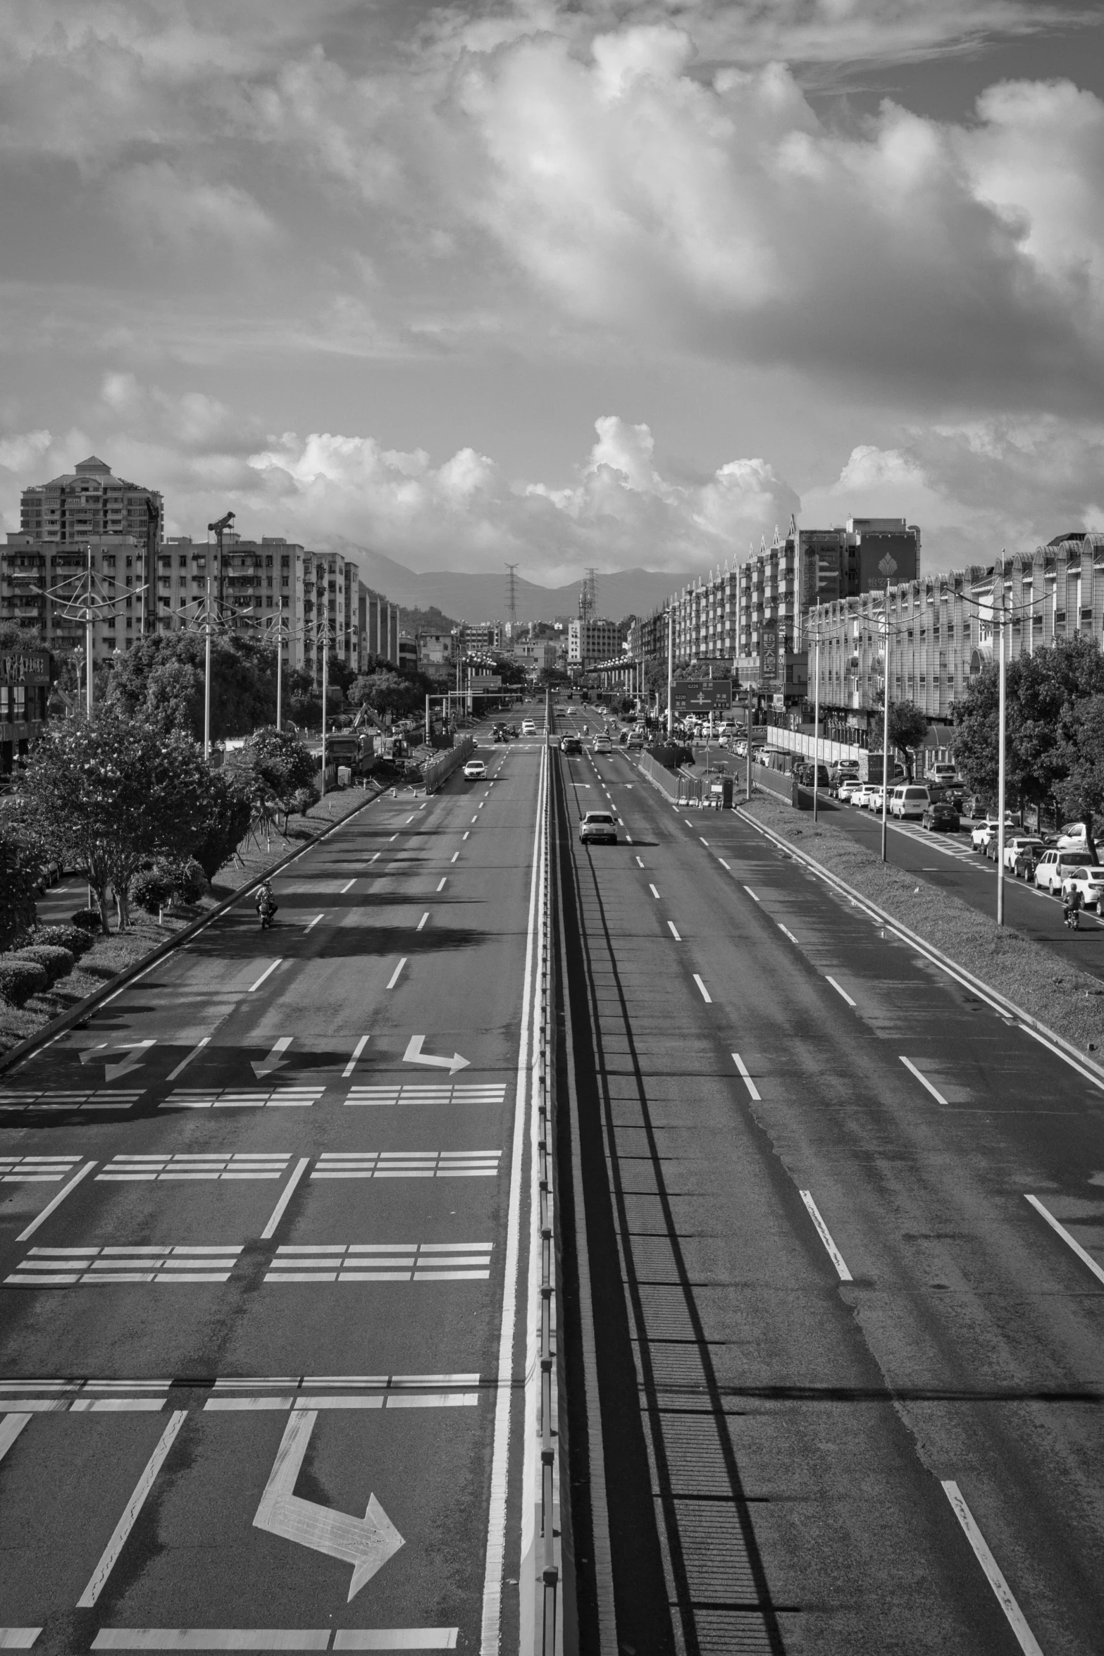
[[[889,603],[889,694],[934,722],[952,717],[1006,616],[1008,659],[1081,634],[1104,643],[1104,535],[1059,535],[1033,553],[972,565],[819,604],[806,618],[809,694],[826,720],[864,730],[882,704]],[[818,649],[819,641],[819,649]]]

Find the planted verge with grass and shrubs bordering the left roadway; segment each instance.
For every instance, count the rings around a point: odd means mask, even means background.
[[[402,783],[399,783],[399,788],[402,790]],[[0,995],[0,1058],[12,1047],[18,1045],[18,1042],[36,1035],[53,1018],[70,1012],[78,1002],[86,1000],[88,995],[94,995],[109,979],[118,977],[127,965],[134,965],[152,949],[166,942],[172,932],[184,931],[185,926],[200,919],[215,904],[240,891],[250,879],[257,879],[273,863],[295,851],[296,843],[310,845],[313,840],[318,840],[336,821],[359,810],[361,805],[377,793],[379,788],[372,785],[339,788],[328,793],[319,805],[311,806],[308,816],[291,818],[286,836],[281,833],[271,833],[270,836],[262,833],[258,840],[243,840],[233,861],[215,874],[207,896],[200,898],[195,904],[166,914],[164,924],[159,926],[157,917],[152,914],[132,909],[127,931],[114,931],[111,937],[98,937],[68,977],[58,979],[45,994],[31,995],[22,1007],[10,1005]],[[79,898],[74,898],[73,909],[79,907],[83,904]]]

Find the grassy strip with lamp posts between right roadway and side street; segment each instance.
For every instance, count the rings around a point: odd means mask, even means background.
[[[1104,985],[1099,979],[1073,962],[1056,960],[1043,944],[1013,926],[998,926],[953,893],[924,879],[917,884],[915,874],[882,863],[831,823],[814,825],[806,811],[798,813],[765,793],[756,793],[743,808],[1081,1052],[1104,1052]],[[1056,936],[1059,929],[1061,909],[1054,904]]]

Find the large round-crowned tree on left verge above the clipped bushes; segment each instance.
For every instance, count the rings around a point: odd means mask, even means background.
[[[187,735],[104,707],[93,722],[51,724],[31,749],[23,780],[28,826],[88,876],[108,932],[111,889],[126,927],[127,891],[142,861],[194,851],[209,778]]]

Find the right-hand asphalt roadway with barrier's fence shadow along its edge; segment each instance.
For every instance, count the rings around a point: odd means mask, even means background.
[[[1101,1085],[742,818],[556,765],[584,1648],[1099,1651]]]

